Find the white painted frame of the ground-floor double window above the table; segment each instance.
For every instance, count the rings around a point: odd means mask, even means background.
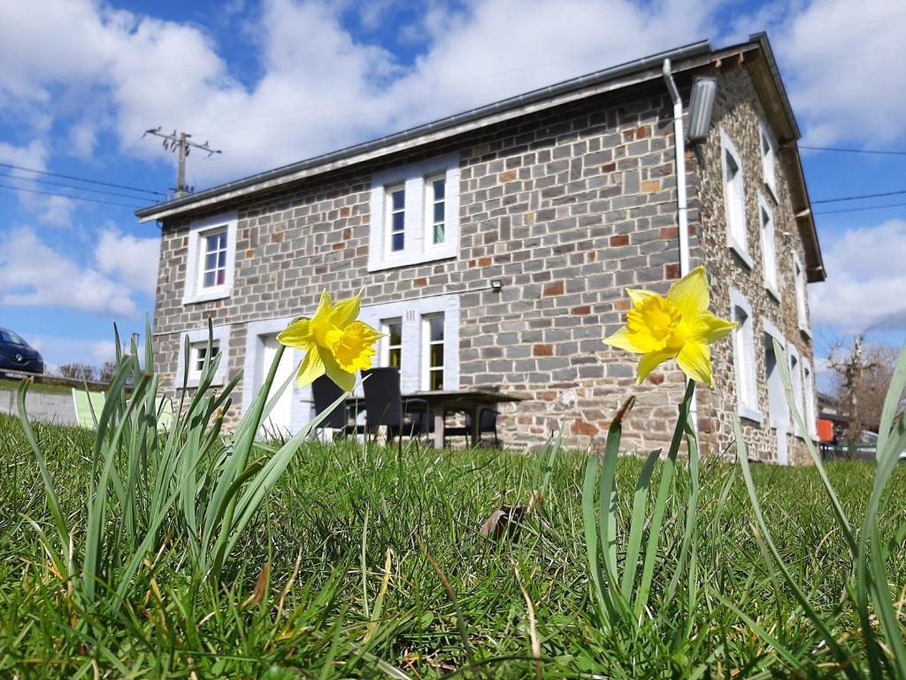
[[[383,320],[402,319],[402,355],[406,359],[400,367],[400,388],[403,393],[424,389],[423,317],[441,313],[444,316],[444,389],[455,390],[459,386],[458,295],[420,297],[361,307],[359,318],[374,328],[380,328]]]

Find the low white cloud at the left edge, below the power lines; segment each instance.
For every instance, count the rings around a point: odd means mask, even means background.
[[[30,229],[11,229],[0,237],[0,305],[57,306],[97,315],[134,316],[136,306],[130,292],[94,267],[80,267]]]

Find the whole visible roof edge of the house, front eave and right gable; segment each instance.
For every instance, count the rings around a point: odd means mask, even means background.
[[[776,126],[777,139],[781,147],[781,160],[786,164],[791,178],[793,209],[800,234],[805,243],[805,260],[808,280],[823,281],[824,260],[818,243],[817,232],[805,174],[796,148],[801,136],[793,109],[786,96],[786,89],[776,66],[774,53],[764,33],[753,34],[747,43],[713,50],[707,40],[677,47],[665,52],[651,54],[631,62],[595,71],[561,83],[548,85],[525,94],[509,97],[499,102],[480,106],[467,112],[457,113],[438,121],[419,125],[409,130],[355,144],[339,151],[300,160],[274,170],[266,170],[240,180],[220,184],[198,193],[167,200],[148,208],[136,210],[141,222],[162,220],[184,215],[189,212],[211,209],[218,204],[257,193],[277,189],[285,184],[311,178],[333,170],[347,168],[367,160],[379,159],[392,153],[429,144],[476,130],[500,121],[506,121],[528,113],[553,108],[567,102],[584,99],[602,92],[613,92],[634,84],[659,81],[664,59],[670,59],[673,73],[691,71],[720,63],[737,56],[747,58],[754,64],[753,83],[759,93],[766,113]]]

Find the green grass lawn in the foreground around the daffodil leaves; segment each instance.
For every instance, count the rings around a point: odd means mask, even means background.
[[[94,437],[34,427],[78,546]],[[169,517],[159,549],[113,607],[110,599],[73,596],[72,580],[54,573],[24,520],[53,528],[33,452],[22,425],[0,417],[0,676],[520,678],[537,671],[533,637],[544,677],[838,674],[823,636],[765,559],[742,475],[728,463],[702,461],[692,598],[684,580],[670,606],[660,607],[689,496],[689,474],[679,465],[650,606],[638,626],[603,627],[583,539],[585,461],[582,453],[558,454],[544,503],[515,537],[495,541],[478,529],[501,494],[507,504],[528,499],[533,458],[306,443],[221,578],[199,578],[180,523]],[[623,457],[617,465],[620,546],[643,463]],[[652,488],[660,470],[658,463]],[[834,462],[826,470],[843,510],[861,517],[873,466]],[[786,568],[847,663],[867,676],[858,613],[845,595],[853,561],[817,472],[754,465],[752,475]],[[901,466],[878,513],[898,594],[906,587],[904,508]]]

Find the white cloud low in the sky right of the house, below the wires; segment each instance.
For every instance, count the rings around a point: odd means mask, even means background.
[[[813,325],[906,329],[906,220],[850,228],[824,243],[827,280],[809,287]]]

